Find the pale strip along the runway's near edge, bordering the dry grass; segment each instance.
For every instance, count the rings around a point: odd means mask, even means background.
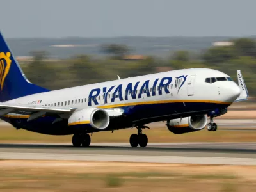
[[[65,160],[65,161],[121,161],[143,163],[179,163],[179,164],[230,164],[256,165],[254,158],[232,157],[184,157],[184,156],[132,156],[106,154],[48,154],[1,152],[1,159],[26,160]]]

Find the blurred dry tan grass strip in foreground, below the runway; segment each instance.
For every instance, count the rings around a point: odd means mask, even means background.
[[[255,191],[256,166],[3,160],[7,191]]]

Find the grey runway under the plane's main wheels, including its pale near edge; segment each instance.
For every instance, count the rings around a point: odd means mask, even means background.
[[[0,159],[256,165],[256,143],[0,144]]]

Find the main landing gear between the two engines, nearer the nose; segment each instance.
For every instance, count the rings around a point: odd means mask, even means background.
[[[130,145],[131,147],[137,147],[140,145],[140,147],[146,147],[148,145],[148,137],[146,134],[142,133],[142,129],[148,128],[147,126],[139,126],[137,127],[138,129],[138,134],[132,134],[130,137]]]

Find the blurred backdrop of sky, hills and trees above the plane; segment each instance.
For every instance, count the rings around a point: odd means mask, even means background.
[[[205,67],[235,81],[242,70],[256,94],[255,1],[1,4],[0,29],[13,54],[32,83],[51,90]]]

